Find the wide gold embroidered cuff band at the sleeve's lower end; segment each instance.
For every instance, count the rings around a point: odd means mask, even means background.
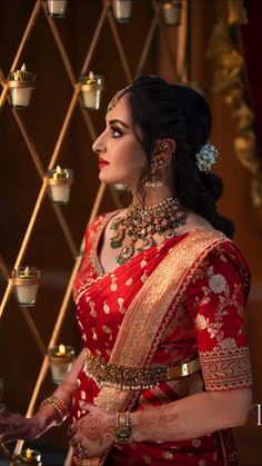
[[[228,390],[252,385],[250,354],[246,346],[216,347],[200,353],[206,390]]]

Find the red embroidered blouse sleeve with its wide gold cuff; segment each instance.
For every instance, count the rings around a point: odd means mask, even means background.
[[[187,298],[187,308],[194,319],[206,390],[252,385],[243,306],[243,285],[238,268],[223,252],[210,254]]]

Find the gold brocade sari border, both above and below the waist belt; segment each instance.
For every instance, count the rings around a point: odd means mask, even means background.
[[[220,242],[230,242],[230,239],[216,230],[198,230],[190,232],[170,250],[125,314],[112,350],[111,363],[130,367],[144,367],[145,361],[147,366],[150,364],[194,271],[208,252]],[[170,309],[174,296],[175,303]],[[103,387],[94,403],[115,413],[127,409],[133,398],[134,391],[124,393],[113,387]]]

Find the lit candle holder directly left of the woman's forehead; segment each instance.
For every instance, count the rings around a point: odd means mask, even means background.
[[[80,77],[80,89],[82,92],[83,107],[87,110],[99,110],[101,103],[103,77],[92,71],[88,76]]]

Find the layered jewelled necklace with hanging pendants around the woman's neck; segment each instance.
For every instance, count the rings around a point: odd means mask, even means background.
[[[144,249],[155,246],[154,234],[163,236],[164,239],[174,237],[175,229],[184,225],[187,215],[175,198],[169,197],[162,202],[142,207],[132,201],[128,207],[124,217],[119,217],[112,221],[110,229],[114,231],[110,238],[112,249],[121,248],[117,256],[118,264],[130,260],[135,250],[141,252]],[[125,236],[130,237],[130,242],[123,246]],[[142,240],[142,246],[135,248],[135,242]]]

